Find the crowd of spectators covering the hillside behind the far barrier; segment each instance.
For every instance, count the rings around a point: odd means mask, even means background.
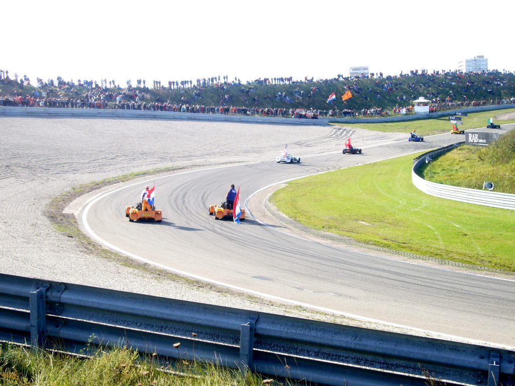
[[[459,71],[410,71],[409,74],[399,76],[386,76],[382,73],[366,76],[362,74],[356,77],[344,77],[338,75],[333,79],[318,79],[305,77],[304,80],[294,80],[293,77],[258,78],[247,81],[243,84],[237,77],[230,80],[228,76],[198,78],[196,81],[168,81],[167,86],[161,81],[153,81],[152,90],[159,92],[176,90],[184,93],[180,102],[163,101],[161,96],[149,97],[149,88],[145,80],[136,80],[136,86],[132,86],[132,81],[126,81],[126,87],[122,88],[114,80],[101,79],[100,83],[96,80],[73,80],[65,81],[57,77],[55,82],[48,79],[37,78],[36,89],[30,94],[23,93],[24,86],[30,86],[30,79],[24,75],[20,77],[14,74],[14,82],[19,84],[19,92],[16,95],[0,95],[0,106],[7,107],[56,107],[56,108],[75,108],[75,109],[122,109],[122,110],[146,110],[146,111],[171,111],[188,112],[203,114],[231,114],[231,115],[264,115],[287,117],[293,116],[295,108],[262,108],[257,107],[259,99],[255,95],[254,86],[260,85],[299,85],[287,95],[285,92],[277,92],[275,95],[266,95],[264,99],[279,100],[293,106],[294,103],[302,104],[304,98],[312,98],[320,93],[320,86],[339,82],[344,84],[344,90],[351,91],[355,98],[362,98],[368,104],[375,104],[374,100],[390,98],[396,96],[397,106],[393,109],[383,107],[337,109],[330,105],[331,109],[312,109],[311,112],[317,116],[328,117],[354,117],[354,116],[388,116],[398,114],[412,114],[414,111],[411,101],[419,95],[424,94],[430,100],[430,113],[442,109],[455,109],[471,106],[484,106],[494,103],[513,103],[514,98],[503,99],[502,101],[490,100],[485,98],[471,99],[467,95],[479,95],[488,93],[494,94],[495,87],[509,86],[515,91],[515,84],[507,80],[506,76],[512,73],[501,73],[498,71],[474,73],[481,76],[481,83],[475,84],[470,74]],[[368,79],[365,83],[362,80]],[[511,77],[513,79],[513,77]],[[12,80],[8,71],[0,70],[0,85],[7,84]],[[304,87],[307,85],[308,87]],[[234,87],[236,86],[236,87]],[[216,87],[219,91],[220,102],[217,106],[204,106],[198,103],[202,98],[202,92],[207,87]],[[87,90],[84,92],[84,88]],[[80,92],[78,91],[80,89]],[[409,90],[413,94],[406,96],[401,91]],[[238,99],[242,106],[231,106],[233,103],[233,92],[239,91]],[[431,90],[431,91],[428,91]],[[454,91],[448,91],[454,90]],[[461,95],[456,90],[461,91]],[[61,96],[61,92],[67,94]],[[236,92],[237,93],[237,92]],[[187,94],[187,95],[186,95]],[[191,96],[190,96],[191,94]],[[515,94],[515,92],[514,92]],[[70,96],[71,95],[71,96]],[[190,99],[192,98],[193,101]],[[379,103],[377,103],[379,104]],[[253,106],[249,106],[253,105]],[[301,107],[301,106],[298,106]],[[333,108],[334,107],[334,108]],[[344,106],[345,107],[345,106]]]

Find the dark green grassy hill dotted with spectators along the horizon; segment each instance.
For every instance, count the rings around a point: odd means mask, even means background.
[[[267,83],[267,84],[265,84]],[[144,95],[147,103],[169,102],[178,104],[199,104],[203,106],[255,107],[255,108],[307,108],[320,110],[362,110],[379,108],[393,110],[406,107],[411,101],[424,97],[439,103],[498,104],[515,97],[515,75],[491,71],[485,74],[409,74],[384,78],[334,78],[318,81],[278,84],[277,80],[263,82],[255,80],[245,84],[221,82],[197,86],[192,83],[178,89],[161,85],[157,89],[148,87],[105,87],[94,88],[94,98],[102,93],[113,99],[121,95],[125,100],[135,94]],[[255,92],[250,91],[253,89]],[[23,85],[14,80],[0,81],[0,96],[34,95],[35,92],[50,92],[53,98],[89,98],[90,87],[74,85],[61,80],[58,84],[42,83],[41,87]],[[341,96],[351,91],[352,98],[342,101]],[[327,103],[329,95],[335,93],[336,100]],[[280,94],[280,96],[279,96]],[[301,96],[303,95],[303,96]]]

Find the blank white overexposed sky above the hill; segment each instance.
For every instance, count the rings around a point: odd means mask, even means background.
[[[461,0],[3,2],[0,69],[64,80],[398,75],[478,55],[515,72],[513,4]]]

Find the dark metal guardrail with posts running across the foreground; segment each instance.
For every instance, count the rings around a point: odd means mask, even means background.
[[[0,309],[0,340],[68,352],[127,345],[328,385],[422,386],[423,371],[448,384],[515,379],[506,349],[22,276],[0,274]]]

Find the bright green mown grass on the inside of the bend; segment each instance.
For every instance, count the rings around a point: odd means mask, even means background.
[[[515,272],[511,210],[430,196],[411,182],[414,155],[288,183],[272,202],[313,229],[395,251]]]

